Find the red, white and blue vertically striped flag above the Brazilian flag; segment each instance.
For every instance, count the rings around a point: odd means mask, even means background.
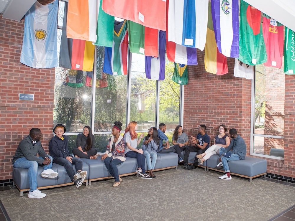
[[[167,5],[169,1],[167,0]],[[168,7],[166,8],[166,23],[168,24]],[[166,55],[169,61],[185,65],[197,65],[197,49],[185,47],[175,42],[168,42],[168,27],[166,27]]]

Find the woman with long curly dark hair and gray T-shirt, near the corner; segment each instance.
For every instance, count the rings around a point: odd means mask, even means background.
[[[172,136],[172,144],[174,145],[173,148],[176,150],[178,154],[178,162],[183,162],[181,151],[185,150],[186,145],[189,144],[189,137],[186,133],[183,132],[182,126],[176,126],[173,136]]]

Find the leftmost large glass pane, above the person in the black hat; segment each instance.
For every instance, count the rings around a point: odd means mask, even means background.
[[[67,133],[82,132],[91,124],[91,99],[86,71],[55,68],[53,126],[62,123]]]

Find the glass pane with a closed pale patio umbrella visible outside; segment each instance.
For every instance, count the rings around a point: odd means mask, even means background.
[[[138,130],[155,126],[156,81],[145,77],[145,56],[132,53],[130,121]]]

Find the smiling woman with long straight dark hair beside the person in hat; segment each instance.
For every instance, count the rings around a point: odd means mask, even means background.
[[[79,133],[76,138],[77,147],[73,149],[73,154],[78,158],[97,159],[95,149],[95,138],[91,127],[85,126],[83,133]]]

